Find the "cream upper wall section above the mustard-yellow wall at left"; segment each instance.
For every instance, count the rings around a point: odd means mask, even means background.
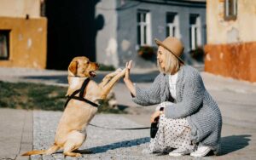
[[[0,16],[5,17],[40,16],[40,0],[0,0]]]

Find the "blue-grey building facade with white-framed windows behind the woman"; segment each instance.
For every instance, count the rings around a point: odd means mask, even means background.
[[[183,41],[183,59],[206,43],[206,2],[195,0],[104,0],[96,5],[104,26],[96,35],[96,60],[106,65],[125,66],[133,60],[139,68],[155,67],[154,38],[173,36]],[[149,48],[149,49],[148,49]],[[152,57],[143,57],[154,49]],[[148,50],[147,50],[148,49]]]

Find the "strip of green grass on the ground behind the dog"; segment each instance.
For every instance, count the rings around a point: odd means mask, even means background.
[[[63,111],[67,98],[67,87],[37,83],[5,83],[0,81],[0,107],[28,110]],[[125,113],[109,106],[102,100],[99,112]]]

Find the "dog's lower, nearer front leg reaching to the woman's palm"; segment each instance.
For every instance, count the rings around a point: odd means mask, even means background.
[[[116,76],[114,76],[102,89],[102,100],[106,99],[108,93],[113,88],[113,85],[118,82],[121,77],[125,76],[126,68],[120,71]]]

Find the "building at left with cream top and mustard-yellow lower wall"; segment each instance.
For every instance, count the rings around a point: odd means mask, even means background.
[[[40,0],[0,1],[0,66],[46,67],[46,25]]]

